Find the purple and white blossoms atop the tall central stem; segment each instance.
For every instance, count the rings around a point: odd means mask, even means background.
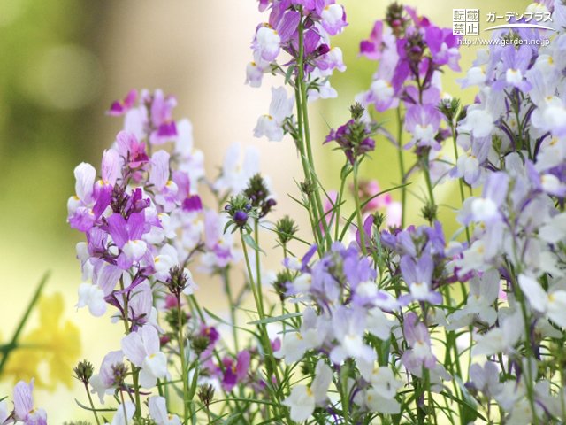
[[[329,78],[334,70],[346,71],[346,66],[340,48],[330,46],[330,37],[348,25],[344,8],[334,0],[272,0],[261,1],[259,9],[270,14],[268,22],[256,28],[251,46],[254,60],[246,70],[246,82],[260,87],[264,73],[280,73],[294,87],[297,105],[337,97]],[[278,63],[281,52],[291,60]],[[269,113],[259,117],[254,135],[279,142],[287,132],[296,140],[294,103],[284,87],[272,88]]]

